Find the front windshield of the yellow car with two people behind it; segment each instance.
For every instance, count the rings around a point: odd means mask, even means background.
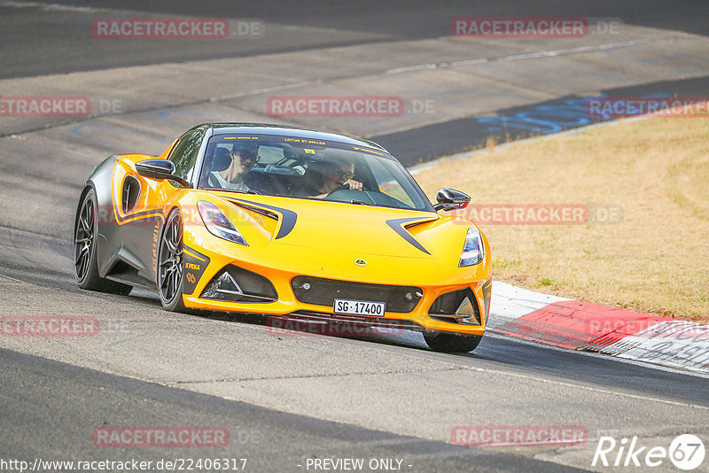
[[[386,152],[298,136],[212,136],[199,189],[432,210],[410,174]]]

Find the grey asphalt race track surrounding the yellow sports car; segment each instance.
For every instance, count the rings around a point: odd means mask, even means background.
[[[592,467],[599,438],[637,436],[638,445],[667,448],[690,433],[706,444],[705,376],[494,334],[474,353],[450,355],[429,351],[415,333],[313,337],[274,333],[257,316],[167,313],[147,291],[79,290],[72,228],[98,162],[160,153],[204,121],[345,131],[373,137],[414,165],[483,146],[491,134],[499,143],[587,125],[569,103],[580,97],[705,96],[709,4],[147,4],[0,0],[0,99],[91,103],[78,118],[0,116],[0,315],[94,316],[100,327],[95,337],[0,337],[0,471],[14,470],[3,460],[39,458],[246,458],[244,470],[253,472],[315,471],[308,461],[357,458],[389,459],[390,469],[412,472],[641,471]],[[253,19],[265,33],[91,35],[97,18],[168,16]],[[450,20],[471,16],[594,17],[621,19],[622,27],[582,38],[451,37]],[[406,110],[374,118],[269,114],[268,97],[293,95],[398,96]],[[471,425],[576,426],[588,441],[453,445],[456,426]],[[96,446],[92,432],[103,426],[217,426],[230,442]],[[667,459],[652,469],[677,470]]]

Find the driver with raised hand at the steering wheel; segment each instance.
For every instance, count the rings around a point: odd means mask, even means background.
[[[362,190],[362,182],[354,181],[353,177],[354,164],[350,160],[332,158],[313,162],[303,174],[297,194],[300,197],[323,198],[339,187]]]

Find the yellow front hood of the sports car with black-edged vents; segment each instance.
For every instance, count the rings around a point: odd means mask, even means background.
[[[315,199],[210,193],[213,198],[209,200],[222,208],[248,243],[217,239],[212,244],[219,244],[219,249],[214,249],[248,261],[254,270],[278,268],[292,274],[414,285],[455,284],[482,277],[489,270],[487,258],[485,264],[458,268],[465,234],[474,224],[456,216]],[[195,223],[203,225],[200,219]]]

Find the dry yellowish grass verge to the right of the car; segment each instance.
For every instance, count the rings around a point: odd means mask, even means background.
[[[709,322],[709,120],[625,120],[488,146],[416,179],[433,201],[450,187],[475,205],[588,206],[590,221],[580,225],[480,223],[496,280]],[[609,208],[622,218],[599,223]]]

